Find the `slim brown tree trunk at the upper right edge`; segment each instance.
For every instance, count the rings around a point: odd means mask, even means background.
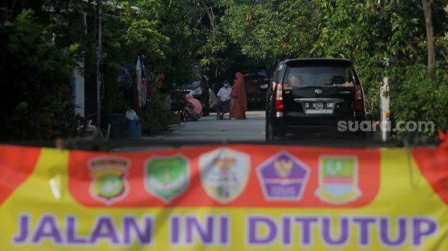
[[[421,0],[425,13],[426,40],[428,48],[428,76],[434,76],[436,68],[436,48],[434,47],[434,27],[432,24],[432,5],[434,0]]]

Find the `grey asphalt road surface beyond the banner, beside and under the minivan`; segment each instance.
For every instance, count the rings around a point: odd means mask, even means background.
[[[246,112],[247,119],[228,120],[228,114],[223,120],[216,119],[216,113],[211,112],[199,121],[182,122],[180,125],[170,125],[170,130],[164,135],[144,136],[135,147],[116,147],[113,152],[137,150],[161,150],[191,143],[226,143],[228,141],[263,143],[265,142],[265,112],[250,110]],[[165,142],[167,143],[165,145]],[[175,145],[172,142],[177,142]],[[155,144],[156,143],[156,144]],[[345,137],[306,136],[291,138],[277,142],[293,145],[333,146],[333,147],[387,147],[380,141],[369,139],[351,139]],[[180,145],[177,145],[180,144]]]

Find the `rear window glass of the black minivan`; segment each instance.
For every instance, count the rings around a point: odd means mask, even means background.
[[[333,86],[353,82],[350,67],[310,66],[289,67],[285,84],[290,86]]]

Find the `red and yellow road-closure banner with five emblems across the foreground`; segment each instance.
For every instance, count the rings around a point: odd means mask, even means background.
[[[448,250],[448,151],[0,145],[0,250]]]

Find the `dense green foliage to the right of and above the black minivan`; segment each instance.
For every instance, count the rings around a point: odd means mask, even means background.
[[[311,53],[355,61],[366,91],[368,111],[374,119],[379,119],[379,87],[384,77],[388,77],[394,120],[430,120],[436,129],[447,129],[446,115],[432,112],[445,110],[443,97],[448,95],[445,56],[448,19],[443,8],[448,1],[432,5],[438,55],[435,75],[428,74],[428,67],[423,67],[427,62],[427,34],[420,0],[319,2],[325,16],[320,38]],[[420,135],[436,136],[436,133]],[[401,132],[399,136],[405,134],[415,132]]]

